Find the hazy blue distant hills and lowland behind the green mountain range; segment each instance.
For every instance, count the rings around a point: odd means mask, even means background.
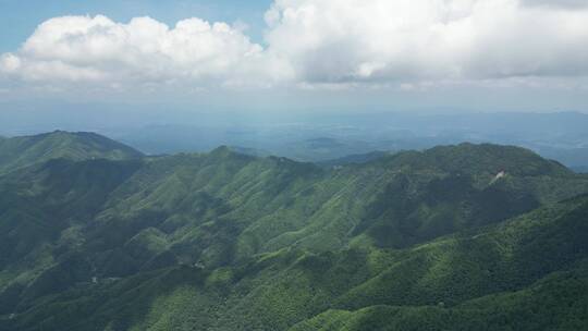
[[[126,122],[120,120],[100,132],[150,155],[207,152],[226,145],[298,161],[323,162],[372,150],[420,150],[470,142],[523,146],[567,167],[588,166],[588,115],[576,112],[338,112],[336,115],[275,118],[268,113],[235,113],[206,117],[206,120],[184,114],[179,123],[167,119],[171,122],[159,119],[158,124],[140,121],[138,123],[143,124],[138,124],[133,118],[132,123],[124,124]],[[17,127],[23,126],[22,123]]]

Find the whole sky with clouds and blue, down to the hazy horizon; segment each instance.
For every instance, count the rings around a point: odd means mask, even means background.
[[[588,2],[0,0],[0,111],[156,103],[586,112]]]

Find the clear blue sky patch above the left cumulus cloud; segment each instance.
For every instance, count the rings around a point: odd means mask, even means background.
[[[264,13],[271,0],[0,0],[0,53],[13,51],[26,40],[39,23],[63,15],[103,14],[125,22],[151,16],[168,25],[186,17],[249,26],[250,37],[262,41]]]

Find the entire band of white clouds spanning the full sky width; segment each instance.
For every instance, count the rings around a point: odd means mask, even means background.
[[[0,57],[0,76],[112,88],[573,81],[588,75],[583,3],[277,0],[264,46],[199,19],[170,28],[149,17],[56,17]]]

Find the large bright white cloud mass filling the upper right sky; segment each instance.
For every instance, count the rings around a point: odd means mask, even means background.
[[[588,74],[588,11],[518,0],[278,0],[269,52],[306,82]]]

